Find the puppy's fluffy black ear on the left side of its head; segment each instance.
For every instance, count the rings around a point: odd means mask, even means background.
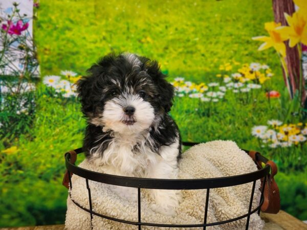
[[[85,116],[89,116],[94,112],[94,104],[91,97],[94,82],[93,77],[82,77],[77,81],[78,98],[82,105],[82,112]]]

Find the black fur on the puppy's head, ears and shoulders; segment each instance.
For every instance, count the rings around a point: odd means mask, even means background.
[[[134,68],[124,54],[109,54],[87,70],[87,76],[77,82],[82,112],[87,119],[83,142],[86,156],[90,155],[91,148],[102,142],[103,153],[112,140],[111,132],[102,131],[102,127],[92,124],[91,120],[101,117],[105,103],[122,94],[127,86],[133,88],[135,94],[144,90],[146,92],[144,100],[154,108],[158,123],[152,124],[150,129],[154,145],[148,145],[153,151],[159,153],[161,146],[172,144],[179,134],[176,123],[168,115],[174,95],[173,86],[165,80],[166,75],[160,71],[157,61],[151,61],[146,57],[137,57],[141,64],[139,68]],[[118,80],[120,87],[117,87],[112,79]],[[143,84],[144,81],[146,84]],[[97,140],[99,141],[97,142]],[[137,146],[135,148],[137,149]],[[181,141],[179,150],[181,153]]]

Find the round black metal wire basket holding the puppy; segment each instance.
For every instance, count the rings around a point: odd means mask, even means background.
[[[198,143],[183,142],[182,144],[184,146],[193,146]],[[82,148],[75,149],[74,151],[77,154],[83,152]],[[244,150],[244,151],[246,153],[249,152],[247,150]],[[83,209],[84,211],[89,212],[91,214],[91,224],[92,224],[93,215],[96,215],[96,216],[99,216],[99,217],[102,217],[108,220],[137,225],[139,229],[141,229],[142,225],[156,226],[156,227],[203,227],[203,229],[206,229],[207,226],[225,224],[225,223],[229,223],[229,222],[236,221],[239,219],[243,219],[245,217],[247,217],[246,229],[248,229],[250,215],[255,212],[257,212],[259,215],[260,207],[262,203],[264,202],[264,188],[265,187],[262,186],[259,205],[257,206],[257,208],[252,210],[252,203],[253,203],[256,181],[258,179],[263,178],[264,179],[263,185],[265,185],[266,177],[267,175],[269,175],[270,170],[271,170],[270,166],[267,165],[264,168],[259,169],[255,172],[246,173],[242,175],[227,176],[227,177],[206,178],[206,179],[150,179],[150,178],[137,178],[137,177],[109,175],[109,174],[98,173],[98,172],[82,169],[78,166],[75,166],[74,164],[71,164],[70,158],[71,158],[71,154],[69,152],[65,153],[65,165],[68,170],[70,189],[73,188],[72,180],[71,180],[72,173],[85,178],[86,188],[87,188],[87,191],[89,192],[89,204],[90,204],[89,209],[82,207],[77,201],[73,200],[71,198],[70,192],[69,192],[69,195],[70,195],[71,200],[80,209]],[[268,159],[260,154],[256,155],[256,160],[259,160],[263,163],[268,162]],[[109,217],[109,216],[94,212],[92,209],[91,188],[89,186],[89,180],[94,180],[94,181],[106,183],[109,185],[137,188],[138,189],[138,221],[135,222],[135,221],[118,219],[118,218]],[[229,220],[207,223],[210,189],[243,185],[244,183],[249,183],[249,182],[253,182],[253,186],[252,186],[249,209],[248,209],[247,214],[233,218],[233,219],[229,219]],[[141,189],[168,189],[168,190],[207,189],[206,205],[205,205],[205,210],[204,210],[204,223],[203,224],[163,224],[163,223],[142,222],[141,221]]]

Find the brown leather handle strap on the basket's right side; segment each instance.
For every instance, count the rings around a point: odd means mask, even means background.
[[[261,160],[257,160],[256,155],[260,154],[256,151],[250,151],[249,155],[252,157],[254,162],[257,164],[258,169],[262,169]],[[277,183],[274,180],[274,176],[277,174],[277,166],[272,160],[269,160],[266,165],[271,167],[271,174],[266,178],[266,184],[264,185],[264,178],[261,178],[261,187],[265,186],[264,189],[264,203],[261,205],[261,212],[276,214],[280,210],[280,196]]]

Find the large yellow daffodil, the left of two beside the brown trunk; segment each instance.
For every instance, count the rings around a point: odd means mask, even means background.
[[[286,57],[286,45],[284,45],[283,41],[287,40],[287,37],[282,36],[279,34],[279,32],[276,30],[277,27],[280,27],[280,23],[276,23],[274,21],[266,22],[265,23],[265,29],[268,31],[270,37],[268,36],[258,36],[253,37],[253,40],[256,41],[264,41],[265,43],[262,43],[260,47],[258,48],[258,51],[266,50],[271,47],[274,47],[274,49],[280,53],[283,57]]]

